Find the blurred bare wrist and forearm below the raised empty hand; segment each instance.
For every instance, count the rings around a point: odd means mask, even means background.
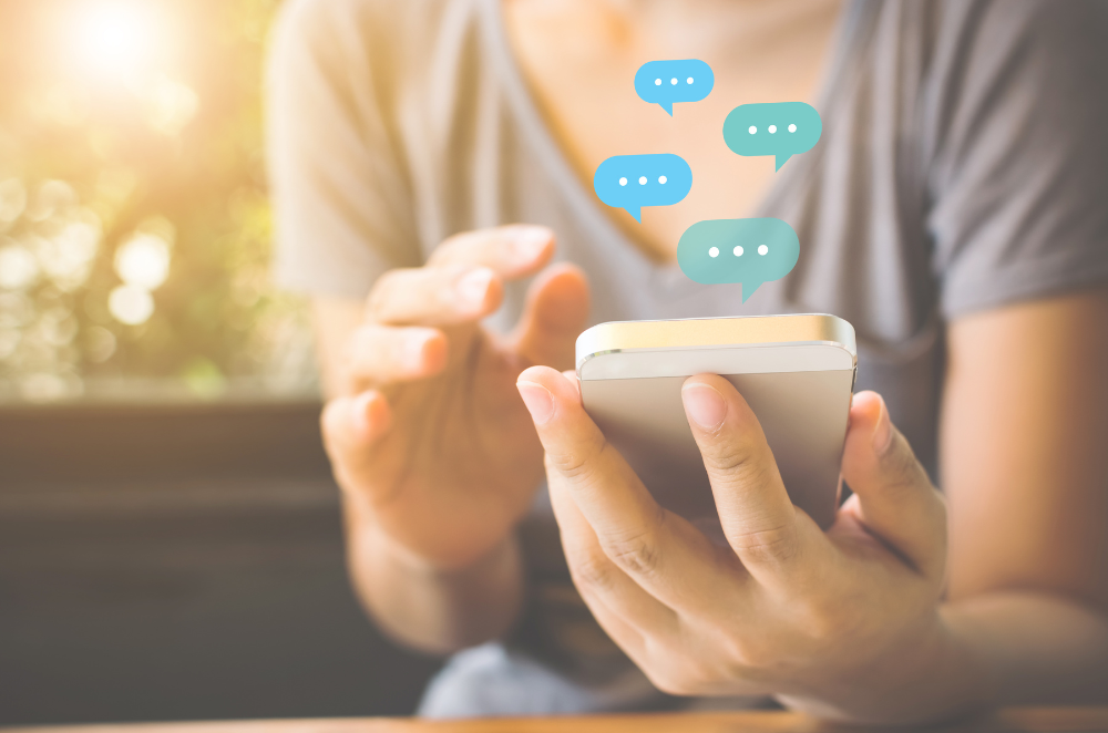
[[[429,653],[450,653],[507,632],[523,599],[514,537],[465,568],[438,570],[409,556],[357,514],[348,505],[350,572],[382,631]]]

